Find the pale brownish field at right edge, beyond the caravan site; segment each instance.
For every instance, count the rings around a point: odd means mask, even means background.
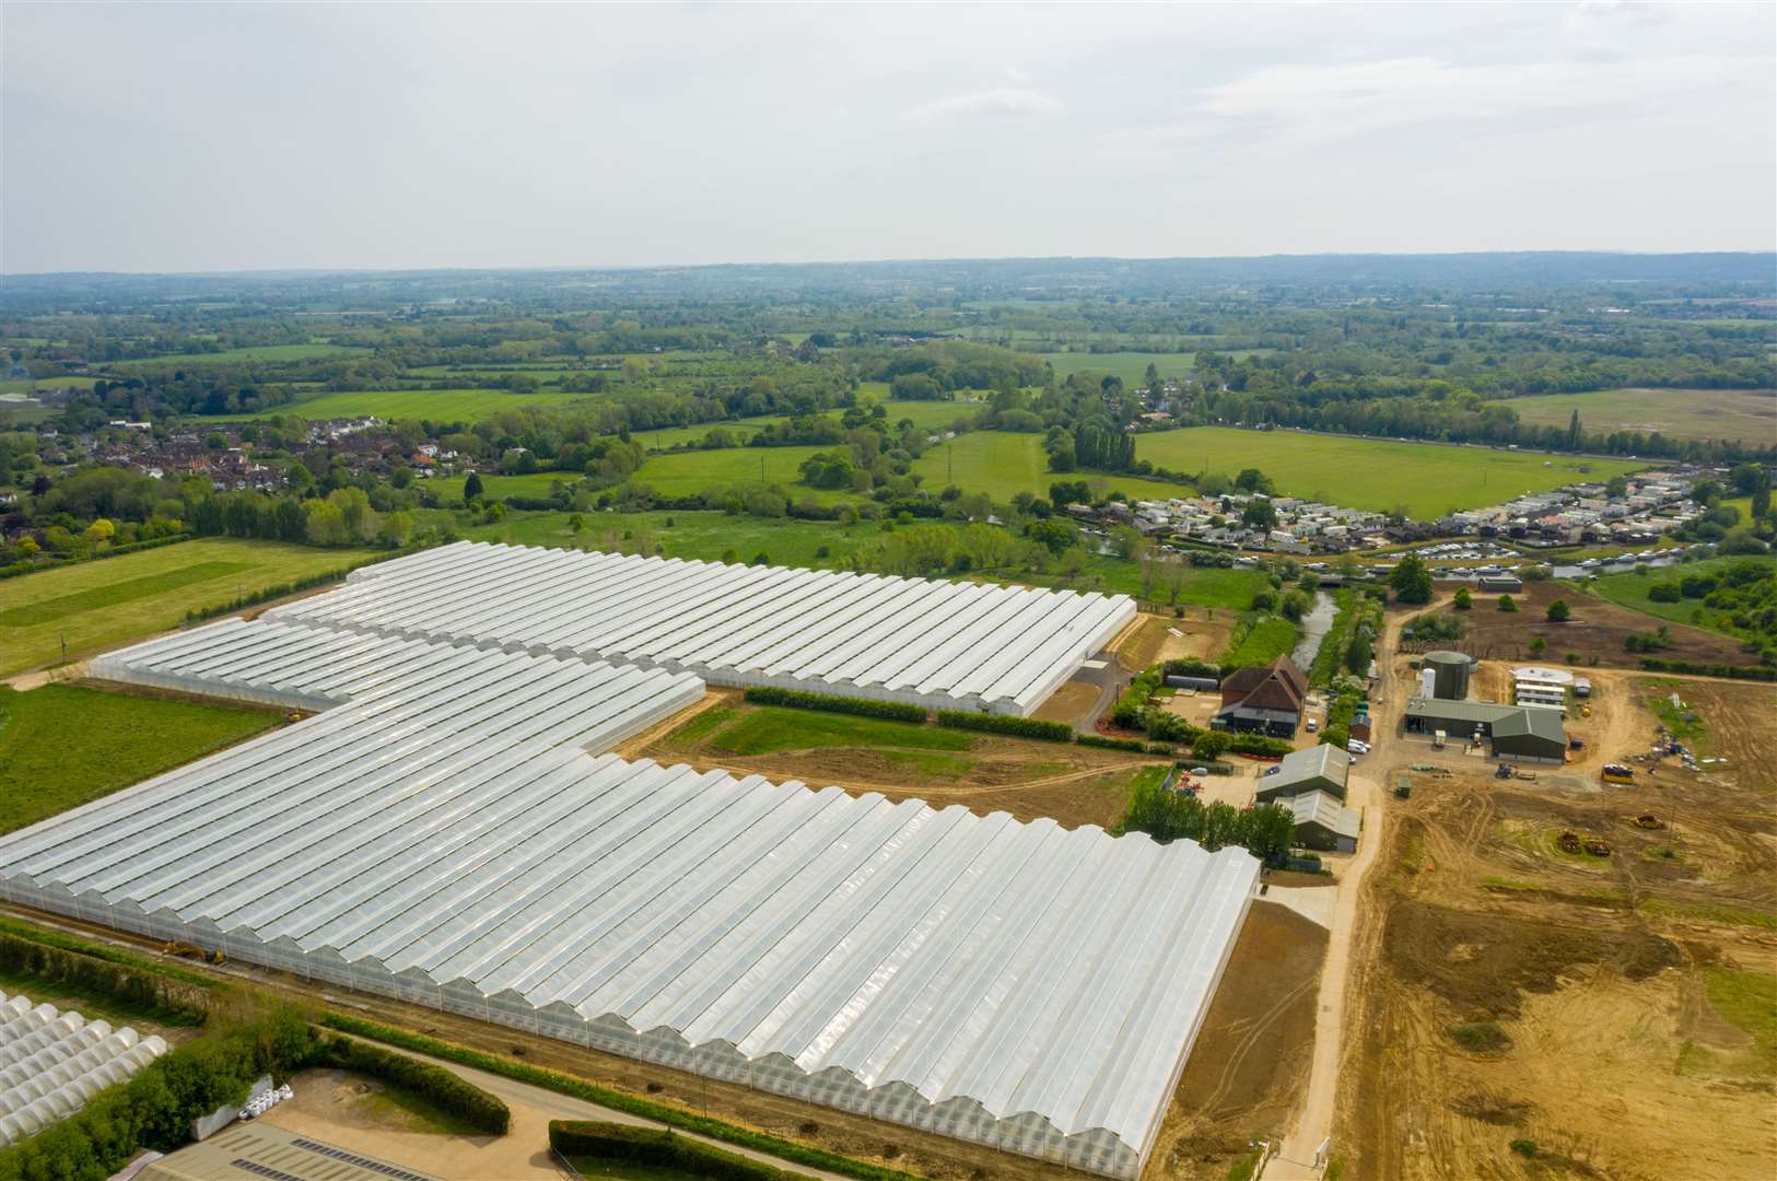
[[[1669,439],[1747,439],[1777,442],[1777,394],[1749,389],[1599,389],[1589,394],[1509,398],[1535,426],[1567,426],[1580,412],[1587,433],[1660,432]]]

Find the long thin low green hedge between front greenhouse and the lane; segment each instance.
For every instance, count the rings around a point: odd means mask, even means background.
[[[796,1161],[798,1165],[809,1165],[810,1169],[823,1169],[826,1172],[837,1172],[848,1177],[858,1177],[860,1181],[913,1181],[913,1177],[910,1177],[908,1174],[897,1172],[894,1169],[883,1169],[881,1165],[869,1165],[865,1161],[853,1160],[849,1156],[828,1153],[825,1149],[810,1147],[807,1144],[796,1144],[794,1140],[780,1140],[778,1137],[769,1137],[762,1131],[736,1128],[734,1124],[725,1124],[720,1119],[697,1115],[693,1112],[686,1112],[677,1106],[668,1106],[665,1103],[654,1103],[650,1099],[643,1099],[640,1096],[633,1096],[622,1090],[610,1090],[606,1087],[588,1083],[581,1078],[558,1074],[554,1071],[526,1066],[522,1062],[512,1062],[498,1055],[482,1053],[480,1050],[469,1050],[466,1046],[437,1041],[435,1037],[425,1037],[423,1034],[409,1034],[407,1030],[379,1025],[375,1021],[347,1016],[343,1012],[329,1012],[325,1018],[322,1018],[322,1025],[327,1025],[345,1034],[355,1034],[359,1037],[370,1037],[380,1042],[387,1042],[391,1046],[400,1046],[403,1050],[425,1053],[434,1058],[444,1058],[448,1062],[460,1062],[462,1066],[473,1066],[478,1071],[489,1071],[492,1074],[503,1074],[505,1078],[515,1078],[521,1083],[544,1087],[546,1090],[574,1096],[576,1099],[586,1099],[588,1103],[597,1103],[601,1106],[608,1106],[617,1112],[627,1112],[629,1115],[652,1119],[668,1124],[672,1128],[679,1128],[682,1131],[695,1131],[702,1137],[709,1137],[711,1140],[723,1140],[727,1144],[739,1144],[741,1147],[769,1153],[771,1156],[780,1156],[787,1161]],[[5,1181],[5,1177],[0,1177],[0,1181]]]

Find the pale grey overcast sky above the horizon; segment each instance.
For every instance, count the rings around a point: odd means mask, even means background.
[[[1766,250],[1773,12],[9,2],[0,270]]]

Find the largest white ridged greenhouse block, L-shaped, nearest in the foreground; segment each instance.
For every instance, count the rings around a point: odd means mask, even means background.
[[[117,654],[124,678],[350,700],[0,836],[0,897],[1139,1174],[1249,854],[595,755],[702,686],[338,638],[259,622]]]

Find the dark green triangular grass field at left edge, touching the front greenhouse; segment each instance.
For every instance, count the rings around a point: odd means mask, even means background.
[[[41,686],[30,693],[0,686],[0,833],[140,783],[275,725],[275,714],[219,705],[156,701],[75,686]]]

